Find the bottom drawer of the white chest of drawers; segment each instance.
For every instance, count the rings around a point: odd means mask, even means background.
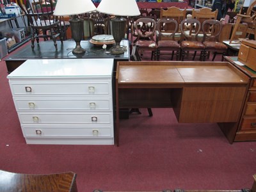
[[[111,127],[26,127],[22,126],[24,137],[113,137]]]

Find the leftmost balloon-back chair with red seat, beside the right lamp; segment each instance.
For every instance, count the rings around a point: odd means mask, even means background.
[[[135,42],[135,45],[138,47],[138,50],[142,54],[143,51],[151,51],[151,60],[154,57],[154,60],[157,59],[157,44],[154,40],[156,33],[156,20],[148,17],[141,17],[135,22],[135,29],[138,35],[138,38]]]

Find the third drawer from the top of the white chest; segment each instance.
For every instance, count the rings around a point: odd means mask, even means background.
[[[20,124],[113,124],[113,113],[18,113]]]

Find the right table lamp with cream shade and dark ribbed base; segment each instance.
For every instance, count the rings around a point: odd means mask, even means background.
[[[126,19],[122,16],[140,15],[136,0],[101,0],[97,11],[109,15],[115,15],[112,21],[112,35],[116,44],[111,48],[111,54],[122,54],[125,52],[120,42],[125,36]]]

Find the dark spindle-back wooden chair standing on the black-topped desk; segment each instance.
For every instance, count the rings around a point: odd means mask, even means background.
[[[35,40],[39,43],[39,38],[44,38],[44,40],[51,38],[57,50],[56,38],[59,36],[62,43],[65,32],[61,28],[59,17],[53,15],[54,4],[52,0],[47,2],[33,0],[32,3],[26,0],[17,0],[17,3],[22,12],[28,17],[29,25],[31,26],[32,49],[35,47]]]

